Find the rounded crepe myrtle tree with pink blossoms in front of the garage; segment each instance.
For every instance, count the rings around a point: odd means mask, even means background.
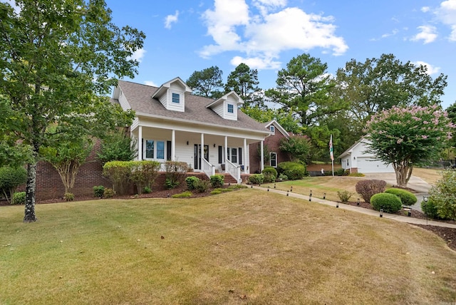
[[[396,181],[406,187],[413,165],[439,155],[455,125],[437,105],[393,107],[373,115],[366,125],[367,152],[393,165]]]

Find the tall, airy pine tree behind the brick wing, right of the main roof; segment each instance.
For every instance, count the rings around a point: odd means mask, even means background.
[[[291,58],[286,69],[277,74],[277,87],[267,90],[266,97],[286,111],[293,110],[302,126],[313,125],[317,118],[344,107],[343,103],[333,103],[329,95],[333,81],[327,68],[326,63],[306,53]]]

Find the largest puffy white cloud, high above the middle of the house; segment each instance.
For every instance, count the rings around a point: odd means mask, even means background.
[[[232,63],[242,58],[252,63],[249,67],[261,69],[276,68],[279,53],[291,49],[323,48],[333,55],[347,51],[343,38],[335,35],[332,16],[307,14],[296,7],[283,9],[285,5],[286,0],[255,0],[249,8],[245,0],[214,0],[214,9],[202,15],[214,44],[204,46],[200,55],[239,51],[246,58],[238,56]]]

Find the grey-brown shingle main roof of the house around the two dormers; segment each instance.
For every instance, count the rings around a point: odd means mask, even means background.
[[[159,100],[152,98],[152,95],[158,90],[157,87],[132,83],[129,81],[118,81],[120,90],[127,98],[132,110],[136,113],[144,113],[146,115],[166,117],[170,120],[189,120],[199,124],[221,125],[230,128],[239,128],[242,130],[254,130],[269,133],[269,130],[264,127],[264,124],[257,122],[237,110],[237,120],[225,120],[217,115],[214,110],[206,108],[207,105],[213,103],[212,98],[204,98],[202,96],[185,93],[185,112],[167,110]],[[118,103],[118,100],[113,100]]]

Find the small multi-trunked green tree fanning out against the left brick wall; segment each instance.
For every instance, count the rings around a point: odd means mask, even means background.
[[[53,146],[41,146],[40,155],[51,163],[60,176],[66,193],[73,193],[78,170],[86,162],[93,148],[93,141],[87,136],[73,138],[65,133],[58,134]]]

